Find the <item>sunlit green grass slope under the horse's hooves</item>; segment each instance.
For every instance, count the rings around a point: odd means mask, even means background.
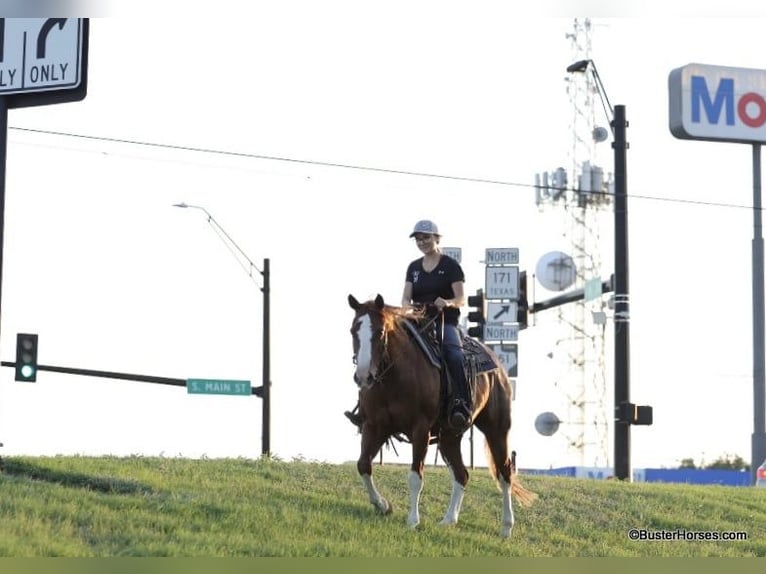
[[[406,524],[407,470],[374,467],[379,516],[355,465],[279,460],[9,457],[0,556],[766,556],[766,489],[521,476],[539,494],[499,537],[485,469],[460,524],[442,527],[450,478],[426,469],[421,526]],[[631,528],[745,531],[746,541],[631,541]]]

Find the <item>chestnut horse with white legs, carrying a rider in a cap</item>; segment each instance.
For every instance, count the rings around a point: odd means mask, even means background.
[[[393,435],[405,435],[412,444],[409,473],[410,511],[407,524],[420,523],[419,502],[423,489],[423,468],[432,436],[452,474],[452,497],[441,524],[457,524],[463,503],[468,471],[460,452],[462,432],[450,429],[441,409],[441,375],[408,334],[408,314],[400,307],[386,305],[378,295],[360,303],[353,295],[348,302],[355,311],[351,326],[354,342],[354,380],[360,388],[362,448],[357,470],[370,502],[382,514],[392,511],[372,479],[372,461]],[[477,375],[473,401],[473,422],[484,434],[490,472],[502,492],[501,535],[508,537],[514,516],[511,495],[524,505],[537,495],[521,486],[513,476],[508,458],[511,428],[511,387],[499,359],[488,350],[496,368]]]

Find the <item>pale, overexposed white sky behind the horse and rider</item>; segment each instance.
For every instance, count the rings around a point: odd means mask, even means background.
[[[271,263],[272,453],[356,460],[342,414],[356,400],[347,295],[400,301],[417,220],[462,249],[467,293],[483,286],[486,248],[518,248],[530,274],[571,251],[569,213],[538,207],[532,185],[567,166],[566,67],[579,59],[567,34],[590,16],[590,56],[629,121],[631,400],[654,408],[652,426],[632,429],[633,467],[749,460],[751,149],[674,138],[668,75],[766,68],[766,14],[559,4],[189,3],[92,18],[87,97],[9,112],[2,359],[28,332],[44,365],[260,385],[261,278],[202,211],[173,204],[202,206],[258,268]],[[608,146],[592,158],[607,172]],[[608,278],[611,211],[590,232]],[[588,310],[608,314],[607,299]],[[582,427],[563,332],[546,312],[519,336],[511,446],[522,467],[610,466],[611,426],[570,445]],[[612,404],[612,333],[609,319],[604,394],[588,409]],[[2,455],[261,452],[257,397],[13,379],[0,369]],[[564,421],[551,437],[534,428],[544,411]],[[409,460],[408,445],[397,452],[384,459]],[[475,454],[481,464],[478,433]]]

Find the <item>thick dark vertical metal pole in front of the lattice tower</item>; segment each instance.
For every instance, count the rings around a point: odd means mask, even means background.
[[[630,299],[628,296],[628,181],[625,106],[614,107],[614,476],[630,468]]]

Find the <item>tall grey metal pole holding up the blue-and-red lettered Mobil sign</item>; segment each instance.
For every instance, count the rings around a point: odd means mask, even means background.
[[[750,444],[750,484],[766,459],[766,383],[764,383],[764,271],[761,213],[761,144],[753,144],[753,435]]]

